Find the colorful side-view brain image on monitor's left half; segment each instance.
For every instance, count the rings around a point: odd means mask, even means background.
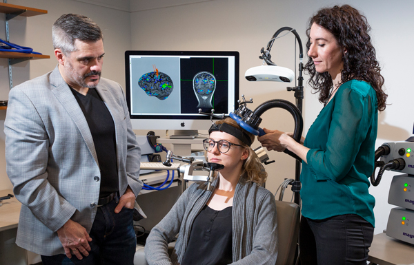
[[[172,79],[163,72],[150,72],[143,74],[139,78],[138,85],[144,89],[148,96],[156,96],[159,100],[164,100],[170,96],[174,84]]]

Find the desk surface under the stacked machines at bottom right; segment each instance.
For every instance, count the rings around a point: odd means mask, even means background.
[[[368,255],[368,261],[380,265],[414,265],[414,245],[385,233],[374,235]]]

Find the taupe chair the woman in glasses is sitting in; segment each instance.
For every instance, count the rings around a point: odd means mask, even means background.
[[[276,265],[290,265],[295,261],[297,237],[299,235],[299,206],[293,202],[276,201],[277,233],[279,235],[279,253]],[[168,252],[174,248],[169,244]],[[134,265],[148,265],[145,259],[144,247],[137,247]]]

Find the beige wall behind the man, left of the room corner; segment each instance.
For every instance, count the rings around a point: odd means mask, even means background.
[[[13,85],[46,74],[57,65],[52,45],[52,24],[68,13],[83,14],[95,21],[103,31],[105,56],[102,76],[125,86],[124,52],[130,49],[130,13],[111,7],[69,0],[9,0],[8,3],[48,10],[48,14],[34,17],[16,17],[9,21],[10,41],[32,47],[34,51],[50,55],[50,59],[32,60],[12,66]],[[128,3],[129,9],[129,3]],[[5,15],[0,14],[0,39],[6,40]],[[8,99],[8,66],[0,59],[0,100]],[[0,110],[0,127],[3,128],[6,111]],[[12,189],[6,175],[4,133],[0,130],[0,189]],[[70,147],[68,147],[70,148]]]

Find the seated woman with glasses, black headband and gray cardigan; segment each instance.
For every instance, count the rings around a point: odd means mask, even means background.
[[[208,162],[224,165],[210,190],[191,185],[146,240],[148,264],[271,264],[277,257],[275,198],[255,152],[255,136],[219,120],[204,140]],[[168,243],[178,235],[168,256]]]

